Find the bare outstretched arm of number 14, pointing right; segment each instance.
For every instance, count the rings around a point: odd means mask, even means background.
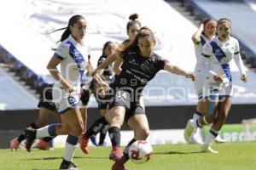
[[[183,69],[179,68],[176,65],[172,65],[170,62],[166,62],[164,65],[164,70],[172,72],[173,74],[181,75],[187,78],[190,78],[192,81],[195,81],[195,75],[190,74],[187,71],[184,71]]]

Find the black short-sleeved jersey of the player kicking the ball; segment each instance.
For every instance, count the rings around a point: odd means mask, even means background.
[[[122,88],[125,91],[141,93],[147,83],[154,78],[156,73],[164,68],[167,60],[160,55],[153,54],[145,58],[138,53],[138,50],[131,49],[122,56],[124,60],[122,71],[111,84],[112,88]]]

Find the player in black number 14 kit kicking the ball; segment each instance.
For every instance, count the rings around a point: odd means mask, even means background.
[[[148,27],[143,27],[134,42],[121,46],[94,71],[96,73],[118,58],[123,59],[122,71],[110,85],[111,90],[109,92],[112,100],[108,111],[110,125],[108,133],[113,146],[109,158],[115,161],[113,170],[125,170],[124,164],[129,159],[128,149],[130,145],[136,140],[145,140],[148,137],[148,119],[138,101],[143,88],[154,78],[155,74],[160,70],[165,70],[195,80],[194,74],[183,71],[155,54],[154,45],[154,33]],[[120,127],[124,120],[134,131],[134,139],[131,139],[122,153]]]

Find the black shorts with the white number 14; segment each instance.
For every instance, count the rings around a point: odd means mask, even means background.
[[[134,100],[134,99],[133,99]],[[125,107],[125,122],[127,123],[131,116],[145,115],[143,106],[140,104],[139,99],[133,101],[131,94],[125,90],[117,90],[109,104],[109,110],[114,106]]]

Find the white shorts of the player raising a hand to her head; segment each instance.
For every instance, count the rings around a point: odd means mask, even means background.
[[[200,71],[195,71],[195,91],[198,96],[198,99],[201,100],[203,98],[203,87],[204,87],[204,74]]]

